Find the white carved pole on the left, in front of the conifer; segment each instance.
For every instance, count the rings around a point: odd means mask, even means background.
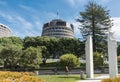
[[[86,74],[88,78],[93,78],[93,44],[92,36],[87,36],[87,41],[85,43],[85,54],[86,54]]]

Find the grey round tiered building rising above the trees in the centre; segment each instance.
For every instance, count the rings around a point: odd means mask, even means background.
[[[42,36],[74,38],[74,28],[66,21],[55,19],[43,25]]]

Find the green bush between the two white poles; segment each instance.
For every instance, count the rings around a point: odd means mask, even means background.
[[[93,61],[95,67],[103,66],[104,65],[103,54],[99,52],[94,52]]]

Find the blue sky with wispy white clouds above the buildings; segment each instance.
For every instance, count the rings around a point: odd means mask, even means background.
[[[43,24],[60,18],[74,25],[76,38],[81,38],[75,21],[90,0],[0,0],[0,23],[7,25],[14,36],[41,36]],[[110,10],[112,31],[120,41],[120,0],[94,0]],[[58,16],[57,16],[58,13]]]

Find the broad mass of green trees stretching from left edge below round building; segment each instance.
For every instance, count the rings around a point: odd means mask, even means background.
[[[80,57],[85,53],[84,47],[84,42],[75,38],[38,36],[21,39],[19,37],[4,37],[0,38],[0,53],[2,53],[0,54],[0,64],[13,68],[16,64],[22,68],[39,68],[42,58],[59,58],[66,53],[72,53]],[[39,55],[41,54],[39,57],[36,52],[37,49]],[[38,63],[38,61],[40,62]]]

